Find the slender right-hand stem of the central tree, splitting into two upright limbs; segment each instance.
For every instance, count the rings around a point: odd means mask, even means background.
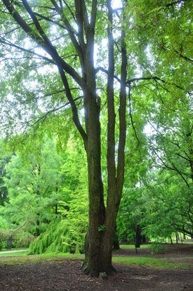
[[[107,210],[105,215],[105,229],[101,237],[101,271],[107,274],[114,270],[112,266],[112,247],[116,227],[117,212],[121,201],[124,185],[124,149],[126,143],[126,44],[125,33],[121,31],[121,88],[119,94],[119,143],[117,153],[117,167],[115,162],[115,110],[114,110],[114,39],[112,34],[113,10],[112,1],[107,0],[108,20],[108,78],[107,78]]]

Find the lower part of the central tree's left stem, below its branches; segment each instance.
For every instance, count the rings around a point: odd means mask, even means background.
[[[89,101],[91,103],[91,100]],[[98,276],[100,271],[100,226],[105,221],[105,205],[103,201],[103,185],[100,165],[100,123],[97,104],[90,104],[88,108],[88,200],[89,226],[86,237],[84,271],[91,276]],[[92,112],[91,112],[92,111]]]

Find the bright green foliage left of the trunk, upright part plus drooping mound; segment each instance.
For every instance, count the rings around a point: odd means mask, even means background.
[[[53,220],[45,233],[32,242],[30,254],[84,252],[88,228],[88,190],[86,163],[82,151],[76,151],[76,142],[67,144],[62,171],[65,173],[64,197],[58,211],[61,218]]]

